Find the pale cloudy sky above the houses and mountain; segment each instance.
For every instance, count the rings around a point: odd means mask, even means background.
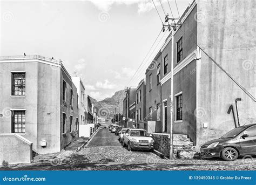
[[[180,15],[191,2],[177,0]],[[167,0],[161,0],[163,8],[159,0],[154,3],[164,21],[165,13],[171,14]],[[177,17],[175,1],[169,3]],[[25,52],[61,59],[98,101],[125,86],[136,87],[169,35],[160,33],[162,23],[151,0],[0,0],[0,7],[1,56]]]

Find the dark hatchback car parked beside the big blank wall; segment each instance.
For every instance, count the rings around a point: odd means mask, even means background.
[[[226,161],[234,161],[238,156],[256,155],[256,124],[234,128],[221,138],[204,143],[201,155],[222,157]]]

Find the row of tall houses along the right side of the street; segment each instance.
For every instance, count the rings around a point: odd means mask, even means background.
[[[255,26],[245,21],[255,16],[252,6],[254,1],[194,1],[180,17],[181,28],[174,31],[173,58],[170,33],[145,78],[137,88],[126,88],[123,113],[128,125],[168,135],[172,104],[174,134],[187,135],[199,149],[238,122],[255,122]],[[227,113],[237,98],[241,101],[233,111],[238,111],[239,120]]]

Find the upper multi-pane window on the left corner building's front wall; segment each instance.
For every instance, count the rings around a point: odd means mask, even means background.
[[[12,73],[12,95],[25,95],[25,73]]]

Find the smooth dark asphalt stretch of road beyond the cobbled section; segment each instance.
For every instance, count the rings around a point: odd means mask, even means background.
[[[93,136],[86,147],[120,146],[118,136],[109,131],[109,128],[102,128]]]

